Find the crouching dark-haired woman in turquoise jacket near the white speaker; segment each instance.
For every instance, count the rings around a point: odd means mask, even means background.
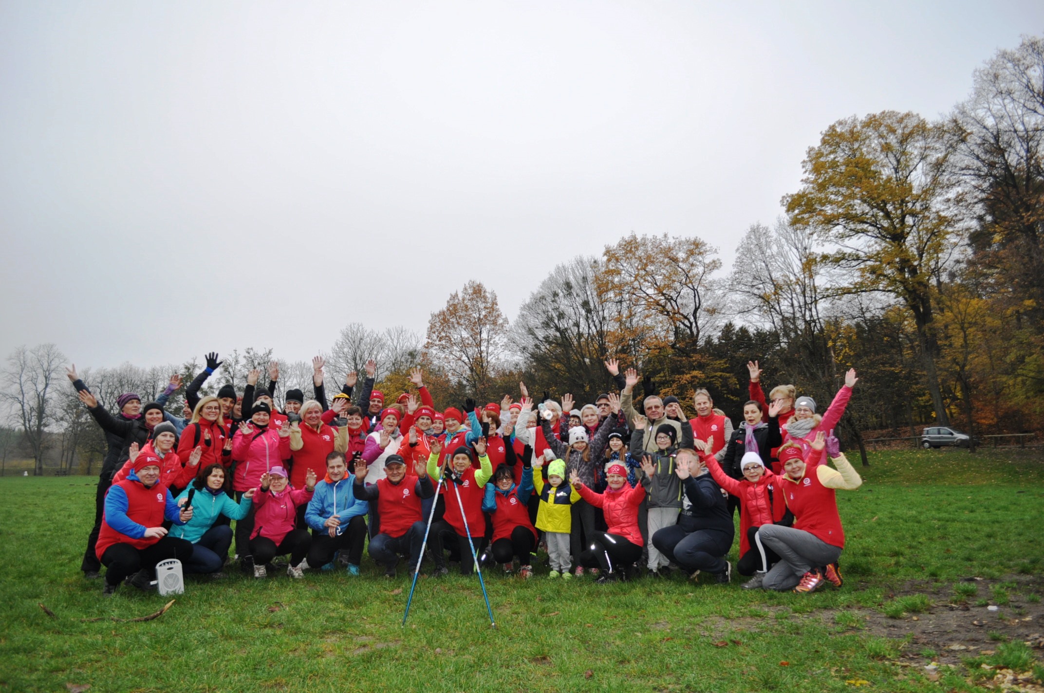
[[[170,528],[170,535],[192,542],[192,557],[185,564],[189,573],[210,574],[219,577],[221,567],[229,557],[232,545],[232,527],[216,524],[220,516],[242,520],[251,511],[251,499],[257,489],[250,488],[238,503],[224,493],[224,468],[219,462],[205,467],[189,487],[177,497],[184,507],[192,493],[192,519],[183,526]]]

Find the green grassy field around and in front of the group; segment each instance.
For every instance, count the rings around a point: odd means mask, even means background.
[[[477,580],[459,576],[422,579],[400,627],[409,583],[369,556],[361,578],[230,573],[190,582],[156,620],[114,622],[167,600],[102,598],[82,578],[94,481],[3,478],[0,690],[966,691],[1004,667],[1031,686],[1035,667],[1044,675],[1024,644],[1044,632],[1042,453],[880,452],[871,464],[862,488],[838,493],[840,590],[492,571],[496,629]]]

